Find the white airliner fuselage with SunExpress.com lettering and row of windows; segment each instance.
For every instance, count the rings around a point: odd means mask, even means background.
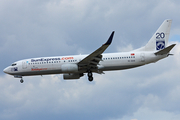
[[[77,64],[87,55],[40,57],[24,59],[13,63],[5,68],[4,72],[15,77],[45,74],[63,74],[63,73],[84,73],[87,72],[78,68],[78,71],[62,71],[62,65]],[[142,66],[156,62],[167,55],[155,55],[154,52],[124,52],[124,53],[106,53],[102,54],[102,61],[97,65],[96,70],[92,72],[103,72],[110,70],[123,70]]]

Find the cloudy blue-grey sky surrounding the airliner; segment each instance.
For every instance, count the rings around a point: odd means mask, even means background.
[[[24,77],[3,73],[32,57],[89,54],[114,39],[105,51],[145,45],[165,19],[172,19],[169,44],[157,63],[94,74],[75,81],[62,75]],[[1,120],[179,120],[180,1],[178,0],[1,0]]]

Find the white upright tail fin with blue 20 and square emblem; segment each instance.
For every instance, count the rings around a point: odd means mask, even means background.
[[[138,51],[159,51],[167,47],[172,20],[165,20],[149,42]]]

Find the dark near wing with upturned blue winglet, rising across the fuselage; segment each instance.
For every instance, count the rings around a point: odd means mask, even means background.
[[[97,65],[99,64],[99,61],[102,60],[102,55],[101,54],[111,44],[113,36],[114,36],[114,31],[111,33],[109,39],[107,40],[107,42],[105,44],[103,44],[100,48],[98,48],[93,53],[91,53],[90,55],[85,57],[83,60],[81,60],[78,63],[78,66],[81,69],[87,69],[87,70],[94,69],[94,68],[96,69]]]

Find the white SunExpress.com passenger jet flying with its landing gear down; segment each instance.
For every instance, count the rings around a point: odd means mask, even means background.
[[[48,74],[63,74],[64,80],[71,80],[87,73],[88,80],[93,81],[93,73],[104,74],[104,71],[155,63],[172,55],[169,52],[176,44],[168,46],[171,23],[170,19],[164,20],[145,46],[130,52],[103,53],[112,42],[113,31],[107,42],[91,54],[24,59],[12,63],[3,72],[21,78],[21,83],[24,82],[23,76]]]

